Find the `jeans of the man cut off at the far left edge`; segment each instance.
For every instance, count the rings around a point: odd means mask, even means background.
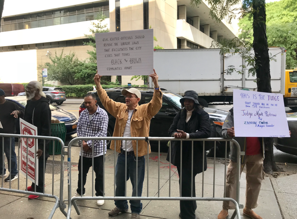
[[[10,148],[10,139],[11,139],[11,150]],[[8,171],[11,168],[11,175],[18,175],[18,167],[17,167],[17,160],[15,154],[15,138],[12,137],[4,137],[4,153],[6,155],[8,161]],[[2,175],[2,170],[4,168],[4,174],[6,173],[5,164],[3,165],[3,151],[2,151],[2,137],[0,137],[0,175]],[[10,166],[10,156],[11,156],[11,166]]]

